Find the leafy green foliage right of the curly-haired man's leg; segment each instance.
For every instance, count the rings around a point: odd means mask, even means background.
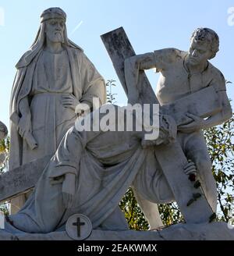
[[[234,117],[205,131],[218,190],[218,219],[232,219],[234,195]]]

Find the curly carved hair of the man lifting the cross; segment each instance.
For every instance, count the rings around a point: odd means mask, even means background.
[[[218,52],[219,50],[218,34],[216,34],[215,31],[211,30],[210,28],[207,28],[207,27],[197,28],[197,30],[193,31],[193,34],[190,40],[207,42],[207,44],[211,46],[212,55],[210,59],[213,59],[216,55],[216,52]]]

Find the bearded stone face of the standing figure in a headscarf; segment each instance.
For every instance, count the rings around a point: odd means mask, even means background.
[[[65,22],[62,19],[51,19],[45,23],[45,34],[49,41],[62,43],[64,41]]]

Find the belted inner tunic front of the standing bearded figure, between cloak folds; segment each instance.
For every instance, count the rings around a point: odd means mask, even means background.
[[[30,92],[32,134],[38,147],[31,150],[23,140],[23,164],[54,153],[66,131],[75,123],[73,109],[62,105],[62,96],[66,94],[73,94],[67,52],[41,52]]]

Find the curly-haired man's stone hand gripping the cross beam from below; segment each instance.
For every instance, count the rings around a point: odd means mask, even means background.
[[[194,116],[193,114],[187,113],[186,116],[192,119],[188,124],[178,126],[177,129],[182,133],[193,133],[196,130],[201,130],[204,128],[205,120],[199,116]]]

